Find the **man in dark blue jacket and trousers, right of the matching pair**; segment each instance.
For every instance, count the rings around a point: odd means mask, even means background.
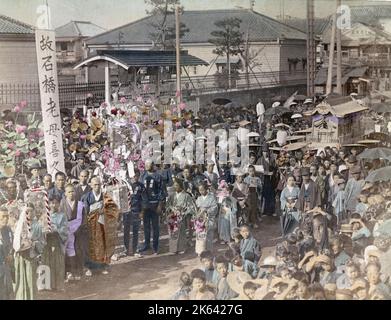
[[[164,183],[161,175],[154,171],[152,161],[145,162],[145,171],[140,177],[140,182],[146,189],[146,204],[143,217],[144,223],[144,247],[141,252],[150,249],[151,243],[151,227],[152,227],[152,249],[157,255],[159,251],[159,215],[162,211],[163,201],[166,198],[164,192]]]

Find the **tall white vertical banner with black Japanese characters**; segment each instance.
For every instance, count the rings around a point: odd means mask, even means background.
[[[37,29],[35,42],[47,172],[54,177],[65,172],[54,31]]]

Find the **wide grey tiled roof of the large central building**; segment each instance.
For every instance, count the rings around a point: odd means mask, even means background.
[[[181,15],[181,22],[190,30],[181,39],[182,43],[206,43],[211,38],[211,32],[217,30],[215,22],[226,18],[237,17],[242,20],[241,32],[246,33],[249,28],[250,41],[268,41],[280,39],[305,40],[306,34],[302,31],[283,24],[273,18],[255,11],[233,10],[205,10],[185,11]],[[161,16],[148,16],[141,20],[126,24],[107,31],[87,40],[87,44],[116,44],[119,33],[122,34],[124,44],[151,44],[151,34],[156,32],[153,25],[159,24]],[[175,17],[167,17],[167,25],[174,26]]]

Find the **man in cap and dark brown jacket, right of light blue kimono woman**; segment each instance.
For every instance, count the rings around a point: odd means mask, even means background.
[[[309,168],[302,168],[301,176],[303,182],[296,202],[296,208],[301,212],[307,212],[321,205],[321,197],[318,185],[311,180]]]

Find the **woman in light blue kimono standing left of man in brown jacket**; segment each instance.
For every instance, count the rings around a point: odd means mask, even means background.
[[[300,222],[298,210],[295,208],[299,193],[300,188],[296,186],[295,178],[289,176],[286,187],[282,190],[280,196],[282,212],[281,228],[283,236],[292,232]]]

